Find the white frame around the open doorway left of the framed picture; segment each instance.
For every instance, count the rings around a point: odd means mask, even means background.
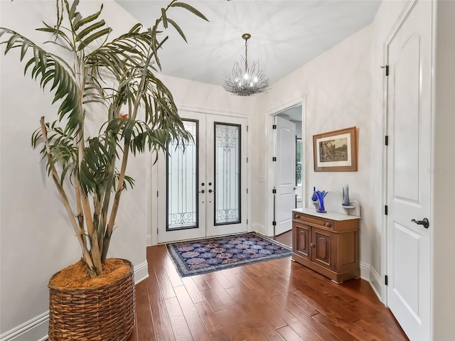
[[[301,106],[301,140],[308,141],[308,136],[306,134],[306,94],[301,97],[297,97],[295,99],[290,100],[289,102],[285,102],[284,104],[275,107],[274,109],[269,109],[266,111],[267,123],[265,127],[266,136],[267,136],[267,221],[265,225],[265,234],[269,237],[274,237],[274,227],[272,225],[274,219],[274,196],[272,194],[272,190],[276,185],[276,173],[275,173],[275,164],[272,161],[272,158],[275,156],[276,150],[276,141],[274,136],[274,131],[272,129],[272,125],[274,124],[274,117],[278,114],[281,114],[287,109],[291,109],[293,107]],[[311,147],[312,148],[312,147]],[[301,181],[301,195],[302,195],[302,207],[306,207],[307,202],[307,192],[308,192],[308,175],[307,175],[307,167],[306,167],[306,149],[307,146],[305,144],[305,148],[302,149],[302,171],[304,171],[304,177]],[[291,212],[289,212],[289,215]]]

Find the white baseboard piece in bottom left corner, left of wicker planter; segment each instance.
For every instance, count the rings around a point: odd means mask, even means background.
[[[0,335],[0,341],[43,341],[48,338],[48,325],[49,311],[46,311]]]

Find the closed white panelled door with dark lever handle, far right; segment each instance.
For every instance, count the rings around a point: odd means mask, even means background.
[[[387,303],[410,340],[431,340],[431,1],[388,45]]]

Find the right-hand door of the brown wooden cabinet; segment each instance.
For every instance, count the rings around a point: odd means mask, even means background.
[[[311,260],[314,263],[324,266],[327,269],[333,269],[333,255],[336,254],[334,249],[335,245],[331,244],[334,242],[333,239],[336,237],[331,233],[318,229],[312,228],[311,234]]]

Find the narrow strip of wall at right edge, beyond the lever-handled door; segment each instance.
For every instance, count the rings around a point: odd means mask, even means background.
[[[455,1],[436,1],[434,26],[433,340],[455,338]]]

